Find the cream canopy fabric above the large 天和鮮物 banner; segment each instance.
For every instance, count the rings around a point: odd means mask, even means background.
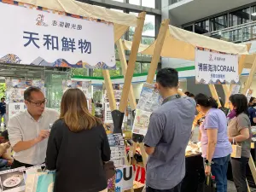
[[[129,15],[74,0],[17,0],[17,2],[113,22],[115,42],[124,35],[129,26],[137,26],[137,16],[135,15]]]

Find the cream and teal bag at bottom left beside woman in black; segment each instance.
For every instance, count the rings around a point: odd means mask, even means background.
[[[27,174],[26,192],[53,192],[55,172],[37,172]]]

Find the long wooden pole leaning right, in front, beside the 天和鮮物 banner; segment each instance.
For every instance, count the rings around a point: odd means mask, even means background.
[[[128,68],[125,74],[125,83],[122,91],[122,96],[119,104],[119,111],[125,113],[127,107],[128,96],[131,88],[131,80],[135,69],[135,63],[137,61],[137,52],[141,43],[143,26],[145,21],[146,13],[142,12],[138,15],[137,27],[134,32],[133,41],[131,45],[131,55],[128,63]]]

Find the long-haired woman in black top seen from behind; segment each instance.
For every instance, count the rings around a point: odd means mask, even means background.
[[[52,126],[46,166],[56,171],[55,192],[98,192],[107,189],[103,162],[110,160],[102,122],[92,116],[82,90],[62,96],[61,117]]]

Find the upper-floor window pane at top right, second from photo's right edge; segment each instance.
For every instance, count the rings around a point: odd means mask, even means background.
[[[238,26],[250,21],[250,9],[241,9],[230,13],[230,26]]]

